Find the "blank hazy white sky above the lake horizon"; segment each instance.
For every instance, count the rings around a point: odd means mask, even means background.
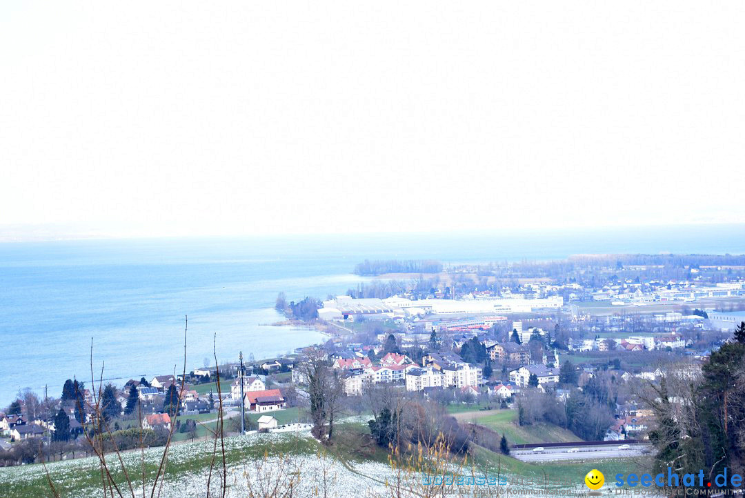
[[[745,221],[745,2],[208,3],[1,4],[6,237]]]

